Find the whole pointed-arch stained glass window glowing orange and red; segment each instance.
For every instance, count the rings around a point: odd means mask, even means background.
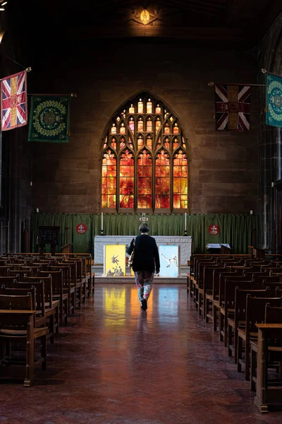
[[[102,143],[102,209],[188,209],[188,148],[178,118],[142,93],[121,107]]]

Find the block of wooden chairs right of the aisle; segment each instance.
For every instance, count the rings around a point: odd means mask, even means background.
[[[193,255],[190,261],[193,272],[188,274],[188,293],[198,313],[203,313],[206,322],[212,321],[214,331],[219,331],[220,340],[228,347],[228,355],[234,355],[238,371],[244,365],[245,378],[251,380],[252,390],[256,382],[257,326],[267,324],[270,313],[272,324],[274,317],[278,326],[282,323],[280,259],[253,259],[245,255]],[[277,341],[281,343],[280,346]],[[282,354],[278,349],[281,346],[282,338],[277,336],[275,346],[271,346],[276,357]],[[280,373],[281,365],[282,362],[278,366]]]

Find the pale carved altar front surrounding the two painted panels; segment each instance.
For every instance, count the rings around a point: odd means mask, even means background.
[[[129,245],[134,235],[96,235],[94,237],[94,264],[104,264],[104,245]],[[192,236],[153,235],[157,245],[180,246],[180,265],[187,266],[192,249]]]

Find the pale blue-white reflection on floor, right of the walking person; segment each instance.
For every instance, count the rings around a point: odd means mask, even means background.
[[[162,321],[178,321],[178,288],[159,288],[159,317]]]

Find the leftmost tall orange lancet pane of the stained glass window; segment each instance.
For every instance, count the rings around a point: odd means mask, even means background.
[[[116,208],[116,156],[111,150],[102,160],[102,208]]]

